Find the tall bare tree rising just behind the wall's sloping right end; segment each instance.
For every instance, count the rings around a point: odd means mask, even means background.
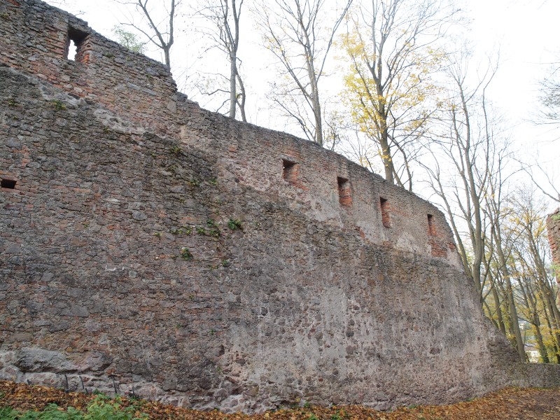
[[[442,116],[442,131],[437,135],[437,153],[444,153],[452,172],[444,176],[437,158],[434,159],[434,165],[430,162],[425,168],[430,174],[431,188],[444,203],[450,217],[463,266],[475,286],[481,290],[485,233],[483,200],[488,188],[491,158],[495,152],[493,137],[486,127],[488,120],[484,91],[493,73],[475,87],[469,87],[466,80],[468,59],[468,56],[462,56],[459,60],[449,58],[447,73],[452,86],[449,87],[449,98],[446,101],[447,116]],[[481,102],[477,103],[479,99]],[[482,123],[474,120],[475,113],[482,116]],[[447,185],[444,179],[448,180]],[[463,244],[463,235],[456,223],[455,207],[458,207],[461,219],[468,228],[472,258],[469,258],[468,248]]]

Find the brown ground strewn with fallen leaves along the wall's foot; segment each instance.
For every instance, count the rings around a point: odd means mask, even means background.
[[[83,393],[65,393],[62,390],[45,386],[29,386],[0,381],[0,407],[12,407],[21,412],[29,409],[41,410],[55,403],[59,407],[84,408],[93,398]],[[217,410],[199,412],[191,409],[164,405],[146,400],[120,401],[123,407],[134,404],[149,415],[150,419],[377,419],[377,420],[436,420],[436,419],[560,419],[560,388],[504,388],[489,393],[482,398],[453,405],[422,405],[401,407],[393,412],[378,412],[357,405],[338,405],[332,407],[294,407],[263,414],[223,414]],[[139,414],[139,413],[138,413]]]

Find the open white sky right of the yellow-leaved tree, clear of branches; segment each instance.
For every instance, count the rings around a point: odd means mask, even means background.
[[[512,127],[511,137],[525,162],[538,160],[560,189],[560,128],[535,125],[538,83],[560,62],[560,1],[469,0],[472,38],[479,51],[499,48],[500,66],[491,100]],[[541,177],[542,179],[542,177]],[[544,182],[544,180],[543,180]],[[550,209],[558,207],[552,203]]]

